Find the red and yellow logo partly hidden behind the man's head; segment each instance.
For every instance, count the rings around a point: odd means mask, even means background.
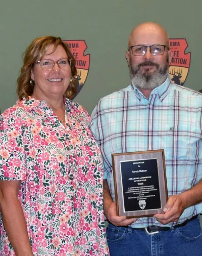
[[[169,39],[170,51],[173,58],[169,67],[170,78],[173,83],[183,86],[189,72],[191,53],[185,53],[188,44],[185,38]]]

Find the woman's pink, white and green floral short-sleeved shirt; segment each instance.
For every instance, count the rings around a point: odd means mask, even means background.
[[[18,180],[34,255],[109,255],[103,162],[85,109],[68,99],[66,127],[44,101],[2,115],[0,180]],[[0,218],[0,254],[15,255]]]

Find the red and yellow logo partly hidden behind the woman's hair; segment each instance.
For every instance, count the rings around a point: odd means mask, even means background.
[[[77,68],[76,95],[78,95],[81,89],[83,88],[86,78],[88,76],[88,70],[90,66],[90,54],[84,55],[84,52],[87,49],[85,40],[64,40],[64,42],[68,44],[76,60],[76,68]]]

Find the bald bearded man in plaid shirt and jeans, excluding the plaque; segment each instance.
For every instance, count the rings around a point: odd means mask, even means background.
[[[202,96],[171,83],[169,39],[156,23],[133,29],[126,59],[131,85],[101,99],[90,124],[104,157],[110,254],[201,255]],[[169,199],[164,213],[117,216],[111,154],[154,149],[165,150]]]

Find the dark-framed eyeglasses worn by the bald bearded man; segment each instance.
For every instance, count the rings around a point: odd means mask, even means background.
[[[131,46],[128,51],[132,51],[134,56],[144,55],[146,53],[146,49],[149,48],[150,53],[152,55],[163,55],[165,52],[165,48],[168,48],[164,45],[153,45],[153,46]],[[169,48],[168,48],[169,50]]]

